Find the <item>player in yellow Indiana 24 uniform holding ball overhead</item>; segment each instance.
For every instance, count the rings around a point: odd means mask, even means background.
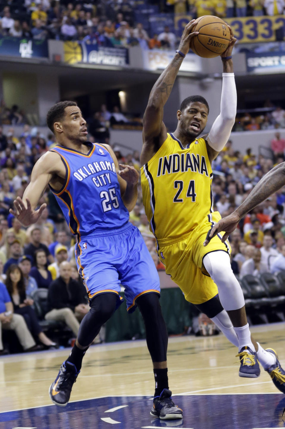
[[[179,49],[149,96],[143,117],[143,203],[166,273],[182,289],[185,299],[207,314],[239,347],[239,375],[258,377],[259,361],[276,381],[279,363],[275,352],[264,350],[251,338],[243,293],[230,266],[229,243],[221,242],[218,234],[203,246],[209,229],[221,219],[212,208],[211,163],[224,148],[236,116],[231,57],[236,39],[230,27],[230,44],[221,54],[221,112],[209,134],[199,137],[209,113],[208,103],[201,96],[182,101],[173,133],[167,133],[163,123],[164,104],[189,51],[190,39],[197,34],[191,33],[194,25],[193,20],[185,26]],[[281,381],[274,384],[279,388]]]

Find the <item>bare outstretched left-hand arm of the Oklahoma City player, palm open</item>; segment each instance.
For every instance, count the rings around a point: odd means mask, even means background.
[[[10,213],[25,227],[36,223],[42,214],[46,204],[42,204],[38,210],[35,208],[49,181],[60,168],[64,168],[64,165],[60,156],[54,152],[47,152],[34,165],[30,183],[24,191],[23,199],[18,196],[14,201],[15,209],[10,208]]]

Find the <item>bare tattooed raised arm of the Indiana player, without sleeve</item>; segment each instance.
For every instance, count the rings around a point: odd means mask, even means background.
[[[163,123],[163,108],[170,96],[182,61],[189,51],[190,39],[198,34],[197,31],[191,33],[195,25],[194,19],[185,25],[178,48],[180,53],[176,51],[173,60],[161,73],[149,95],[149,102],[143,115],[143,151],[141,154],[143,164],[147,162],[149,153],[152,156],[167,137],[166,127]]]

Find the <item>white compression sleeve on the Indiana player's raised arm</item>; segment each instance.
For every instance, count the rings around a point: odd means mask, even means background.
[[[221,113],[216,118],[207,137],[209,146],[220,152],[230,137],[236,118],[236,84],[234,73],[223,73]]]

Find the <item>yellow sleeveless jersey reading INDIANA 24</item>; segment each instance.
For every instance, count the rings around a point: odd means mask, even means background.
[[[143,204],[157,240],[176,239],[212,213],[212,168],[206,142],[184,148],[173,134],[141,168]]]

